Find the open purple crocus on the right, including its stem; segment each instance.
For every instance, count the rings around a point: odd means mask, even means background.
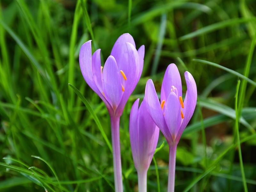
[[[161,103],[151,79],[148,80],[145,89],[148,112],[169,144],[168,192],[174,191],[176,148],[196,107],[196,82],[188,71],[184,75],[187,84],[184,103],[180,73],[173,63],[167,67],[164,74]]]

